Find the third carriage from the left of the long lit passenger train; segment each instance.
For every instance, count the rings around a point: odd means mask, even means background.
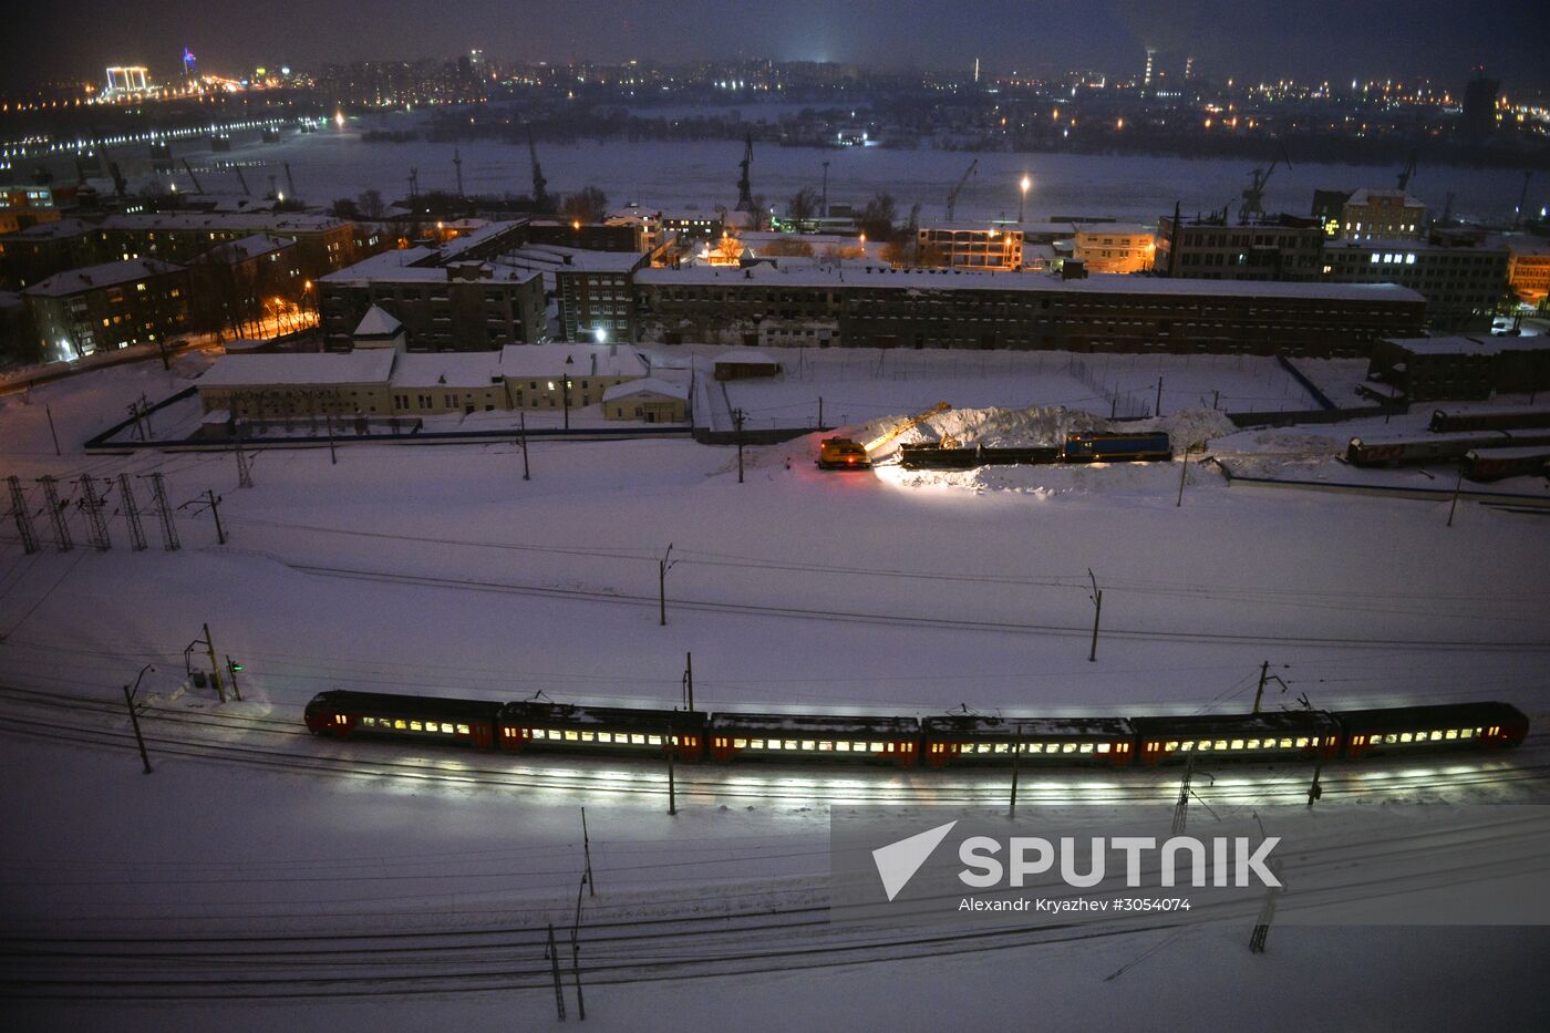
[[[896,717],[713,713],[710,755],[760,760],[859,760],[910,768],[919,758],[921,723]]]

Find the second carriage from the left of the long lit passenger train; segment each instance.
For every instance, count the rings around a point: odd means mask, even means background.
[[[660,757],[671,743],[679,760],[699,760],[705,754],[707,718],[704,710],[508,703],[501,707],[501,749]]]

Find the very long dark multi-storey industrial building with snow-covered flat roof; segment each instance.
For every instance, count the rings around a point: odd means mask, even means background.
[[[1277,284],[887,265],[636,275],[643,341],[1367,357],[1415,337],[1426,301],[1392,284]]]

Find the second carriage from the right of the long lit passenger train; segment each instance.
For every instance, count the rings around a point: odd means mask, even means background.
[[[1201,713],[1130,718],[1141,763],[1184,762],[1190,755],[1232,760],[1335,757],[1341,726],[1324,710]]]

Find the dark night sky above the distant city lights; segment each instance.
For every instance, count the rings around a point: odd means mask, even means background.
[[[211,71],[324,60],[684,60],[769,56],[989,73],[1161,68],[1350,81],[1424,74],[1457,88],[1485,64],[1507,92],[1550,88],[1550,16],[1519,0],[71,0],[31,3],[0,34],[8,87],[91,79],[108,64],[169,76],[183,47]],[[1170,57],[1172,56],[1172,57]]]

